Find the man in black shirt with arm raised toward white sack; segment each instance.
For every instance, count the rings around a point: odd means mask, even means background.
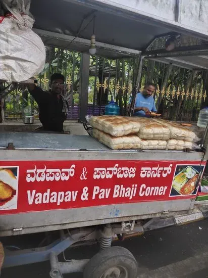
[[[39,107],[39,120],[42,130],[64,132],[64,121],[67,119],[68,103],[62,96],[65,78],[60,73],[50,77],[50,90],[43,91],[35,84],[29,84],[28,90]]]

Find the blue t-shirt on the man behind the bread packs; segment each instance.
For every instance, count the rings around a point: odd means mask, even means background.
[[[136,96],[135,108],[137,108],[137,107],[146,107],[151,112],[157,111],[153,97],[144,98],[144,96],[141,94],[141,92],[138,92],[138,94]],[[134,116],[149,117],[142,110],[135,112]]]

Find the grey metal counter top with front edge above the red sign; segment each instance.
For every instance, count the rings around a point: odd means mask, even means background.
[[[15,150],[8,151],[13,143]],[[0,132],[1,160],[203,160],[201,152],[111,150],[88,135]],[[69,156],[69,152],[70,156]]]

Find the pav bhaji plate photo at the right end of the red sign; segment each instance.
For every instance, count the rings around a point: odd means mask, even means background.
[[[196,195],[204,165],[177,165],[170,196]]]

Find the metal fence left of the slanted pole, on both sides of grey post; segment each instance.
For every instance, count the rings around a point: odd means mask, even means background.
[[[81,55],[73,51],[45,47],[46,63],[44,70],[35,78],[43,90],[49,89],[50,75],[60,72],[65,76],[64,95],[69,102],[68,119],[79,119]],[[135,80],[135,59],[108,60],[90,57],[88,115],[101,115],[108,101],[117,101],[122,114],[131,95]],[[24,114],[38,118],[38,105],[27,90],[17,89],[5,100],[6,118],[22,118]]]

